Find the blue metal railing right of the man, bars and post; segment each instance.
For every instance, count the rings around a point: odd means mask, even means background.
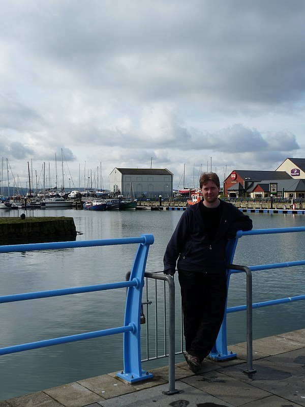
[[[263,301],[260,303],[253,304],[252,303],[252,271],[270,270],[270,269],[286,268],[286,267],[293,267],[293,266],[303,266],[303,265],[305,265],[305,260],[289,261],[289,262],[285,262],[285,263],[272,263],[272,264],[249,266],[249,267],[236,266],[236,265],[233,265],[233,258],[234,258],[238,239],[240,239],[243,236],[271,235],[271,234],[281,234],[281,233],[289,233],[289,232],[304,232],[304,231],[305,231],[305,227],[284,227],[284,228],[275,228],[275,229],[256,229],[256,230],[248,230],[248,231],[238,230],[235,239],[231,239],[227,245],[227,252],[226,252],[226,260],[227,260],[227,265],[228,265],[227,266],[228,267],[227,287],[229,288],[229,281],[230,281],[231,274],[246,272],[246,274],[247,274],[247,305],[227,308],[226,313],[247,310],[247,331],[249,331],[249,329],[251,329],[251,332],[247,333],[247,335],[249,335],[249,337],[247,339],[247,345],[248,345],[248,347],[250,347],[250,352],[248,352],[248,353],[249,353],[249,355],[251,354],[251,357],[252,357],[252,309],[259,308],[259,307],[266,307],[266,306],[270,306],[270,305],[276,305],[276,304],[284,304],[284,303],[292,302],[292,301],[305,300],[305,295],[300,295],[300,296],[287,297],[287,298],[282,298],[282,299],[277,299],[277,300]],[[249,319],[250,319],[250,321],[249,321]],[[235,353],[228,351],[227,325],[226,325],[226,316],[225,316],[222,327],[219,332],[219,335],[217,337],[216,343],[215,343],[211,353],[209,354],[209,357],[211,359],[214,359],[217,361],[223,361],[223,360],[234,358],[236,356],[237,355]],[[249,358],[250,358],[250,356],[249,356]],[[248,370],[251,370],[251,368]]]

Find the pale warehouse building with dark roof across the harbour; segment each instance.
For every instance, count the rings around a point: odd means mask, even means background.
[[[114,168],[109,184],[110,192],[124,196],[168,198],[173,192],[173,173],[166,168]]]

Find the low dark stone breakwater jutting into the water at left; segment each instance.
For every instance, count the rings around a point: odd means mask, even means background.
[[[77,235],[72,217],[0,218],[0,243],[23,243],[25,240],[75,240]]]

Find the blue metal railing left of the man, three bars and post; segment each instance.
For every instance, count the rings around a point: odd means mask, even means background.
[[[140,311],[141,311],[142,290],[144,285],[144,273],[148,249],[149,246],[154,243],[153,235],[142,235],[138,238],[0,246],[0,253],[49,250],[49,249],[67,249],[76,247],[127,245],[135,243],[138,243],[139,245],[135,255],[129,281],[121,281],[108,284],[87,285],[82,287],[53,289],[35,293],[15,294],[0,297],[0,303],[8,303],[15,301],[33,300],[37,298],[65,296],[70,294],[89,293],[101,290],[127,287],[128,292],[125,305],[124,326],[64,336],[59,338],[46,339],[37,342],[23,343],[14,346],[7,346],[0,348],[0,355],[7,355],[15,352],[27,351],[30,349],[57,345],[60,343],[75,342],[83,339],[97,338],[117,333],[124,333],[123,338],[124,370],[122,370],[121,373],[118,373],[117,375],[130,383],[138,382],[153,377],[151,373],[144,371],[141,368],[141,347],[140,347]]]

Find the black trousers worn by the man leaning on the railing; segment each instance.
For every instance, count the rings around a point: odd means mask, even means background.
[[[227,277],[178,270],[186,351],[202,361],[219,333],[227,298]]]

